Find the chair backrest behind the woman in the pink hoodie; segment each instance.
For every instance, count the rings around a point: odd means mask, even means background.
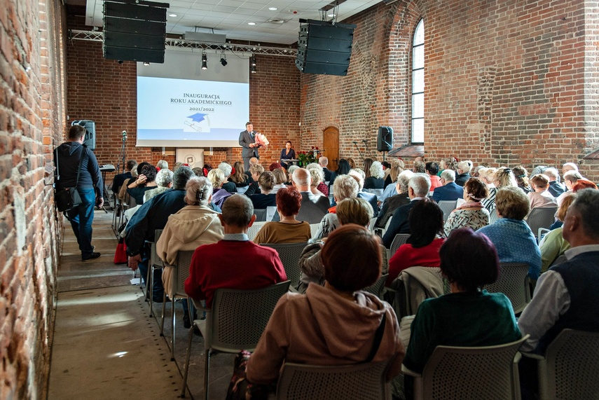
[[[390,386],[385,384],[387,364],[315,366],[286,363],[279,377],[276,399],[390,399]]]

